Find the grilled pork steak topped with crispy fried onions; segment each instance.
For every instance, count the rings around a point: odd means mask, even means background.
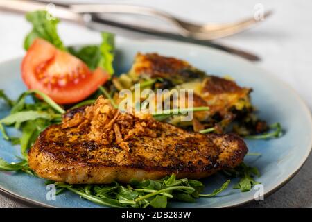
[[[234,134],[191,133],[149,114],[125,114],[99,97],[46,128],[28,153],[38,176],[70,184],[204,178],[236,167],[247,153]]]

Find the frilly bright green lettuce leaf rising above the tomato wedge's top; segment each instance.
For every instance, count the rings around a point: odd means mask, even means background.
[[[49,15],[49,12],[44,10],[39,10],[35,12],[28,12],[26,14],[26,19],[28,22],[33,24],[33,30],[28,33],[24,40],[24,49],[28,50],[33,40],[40,37],[51,44],[55,45],[60,50],[66,50],[62,40],[58,36],[56,26],[59,19],[53,18]]]

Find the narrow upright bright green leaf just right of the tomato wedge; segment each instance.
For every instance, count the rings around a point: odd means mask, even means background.
[[[114,34],[101,33],[102,44],[100,46],[101,58],[98,61],[98,67],[108,71],[111,75],[114,74]]]

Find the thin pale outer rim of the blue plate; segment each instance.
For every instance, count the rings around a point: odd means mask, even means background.
[[[291,87],[291,85],[286,83],[284,80],[278,78],[277,76],[272,74],[270,71],[268,71],[266,69],[263,69],[263,67],[259,67],[258,65],[252,64],[252,62],[249,62],[248,60],[240,58],[239,56],[235,56],[235,55],[232,55],[232,54],[225,53],[225,52],[220,51],[218,49],[206,48],[204,46],[199,46],[199,45],[196,45],[196,44],[184,43],[184,42],[175,42],[175,41],[171,41],[171,40],[152,40],[152,39],[135,40],[135,39],[126,39],[124,37],[117,37],[117,41],[116,42],[118,44],[119,42],[123,43],[123,42],[127,42],[127,41],[130,41],[130,42],[131,41],[133,41],[133,42],[145,42],[145,43],[150,43],[150,44],[153,44],[153,43],[154,44],[155,43],[158,43],[158,44],[159,43],[161,43],[161,44],[175,44],[175,45],[180,45],[180,46],[191,46],[191,47],[197,48],[197,49],[207,49],[209,51],[214,51],[216,53],[219,53],[222,56],[232,57],[234,60],[237,60],[239,62],[243,62],[243,63],[248,64],[248,65],[256,66],[257,69],[266,72],[270,76],[270,78],[273,78],[274,80],[278,81],[279,83],[281,83],[282,85],[287,87],[289,90],[291,90],[291,92],[296,96],[297,101],[300,102],[301,107],[303,108],[302,110],[304,110],[304,112],[306,112],[306,117],[310,117],[309,118],[310,119],[309,125],[312,127],[312,114],[311,114],[311,111],[309,109],[309,106],[306,104],[306,101],[304,101],[304,99],[302,99],[300,94],[298,94],[297,91],[293,87]],[[90,42],[89,43],[83,42],[81,44],[75,44],[75,46],[81,46],[81,45],[84,45],[84,44],[90,44]],[[23,57],[22,56],[17,56],[15,58],[10,58],[8,60],[2,60],[0,62],[0,66],[5,64],[5,63],[7,63],[7,62],[13,62],[14,60],[21,60],[21,58],[23,58]],[[312,137],[310,137],[309,148],[306,149],[306,153],[305,153],[304,157],[301,159],[301,161],[299,162],[299,164],[295,168],[295,170],[292,173],[290,173],[289,176],[285,180],[281,181],[279,183],[279,185],[277,185],[275,187],[272,187],[272,189],[266,191],[264,196],[268,197],[268,196],[274,194],[275,191],[281,189],[281,187],[284,187],[284,185],[286,185],[300,171],[300,169],[302,169],[302,166],[304,165],[304,163],[308,159],[311,151],[312,151]],[[0,185],[0,191],[3,192],[4,194],[8,194],[8,196],[12,196],[13,198],[17,198],[18,200],[25,201],[26,203],[31,203],[33,205],[37,205],[37,206],[40,206],[40,207],[57,208],[54,205],[49,205],[49,204],[42,203],[42,202],[37,201],[37,200],[33,200],[31,198],[26,198],[24,196],[21,196],[21,195],[15,193],[14,191],[10,191],[10,190],[2,187],[1,185]],[[220,207],[218,207],[218,208],[239,207],[239,206],[242,206],[242,205],[245,205],[245,204],[248,204],[248,203],[252,203],[254,201],[255,200],[253,198],[249,198],[248,200],[244,200],[241,203],[224,204],[224,205],[220,205]],[[205,206],[203,206],[203,207],[205,207]]]

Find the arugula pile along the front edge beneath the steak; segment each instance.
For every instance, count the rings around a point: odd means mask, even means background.
[[[49,182],[52,183],[52,182]],[[203,197],[212,197],[225,190],[229,180],[212,194],[200,194]],[[108,207],[134,208],[165,208],[171,200],[195,202],[204,185],[198,180],[187,178],[177,180],[175,174],[161,180],[131,180],[128,185],[114,182],[110,185],[68,185],[56,182],[58,191],[68,189],[79,196],[94,203]]]

